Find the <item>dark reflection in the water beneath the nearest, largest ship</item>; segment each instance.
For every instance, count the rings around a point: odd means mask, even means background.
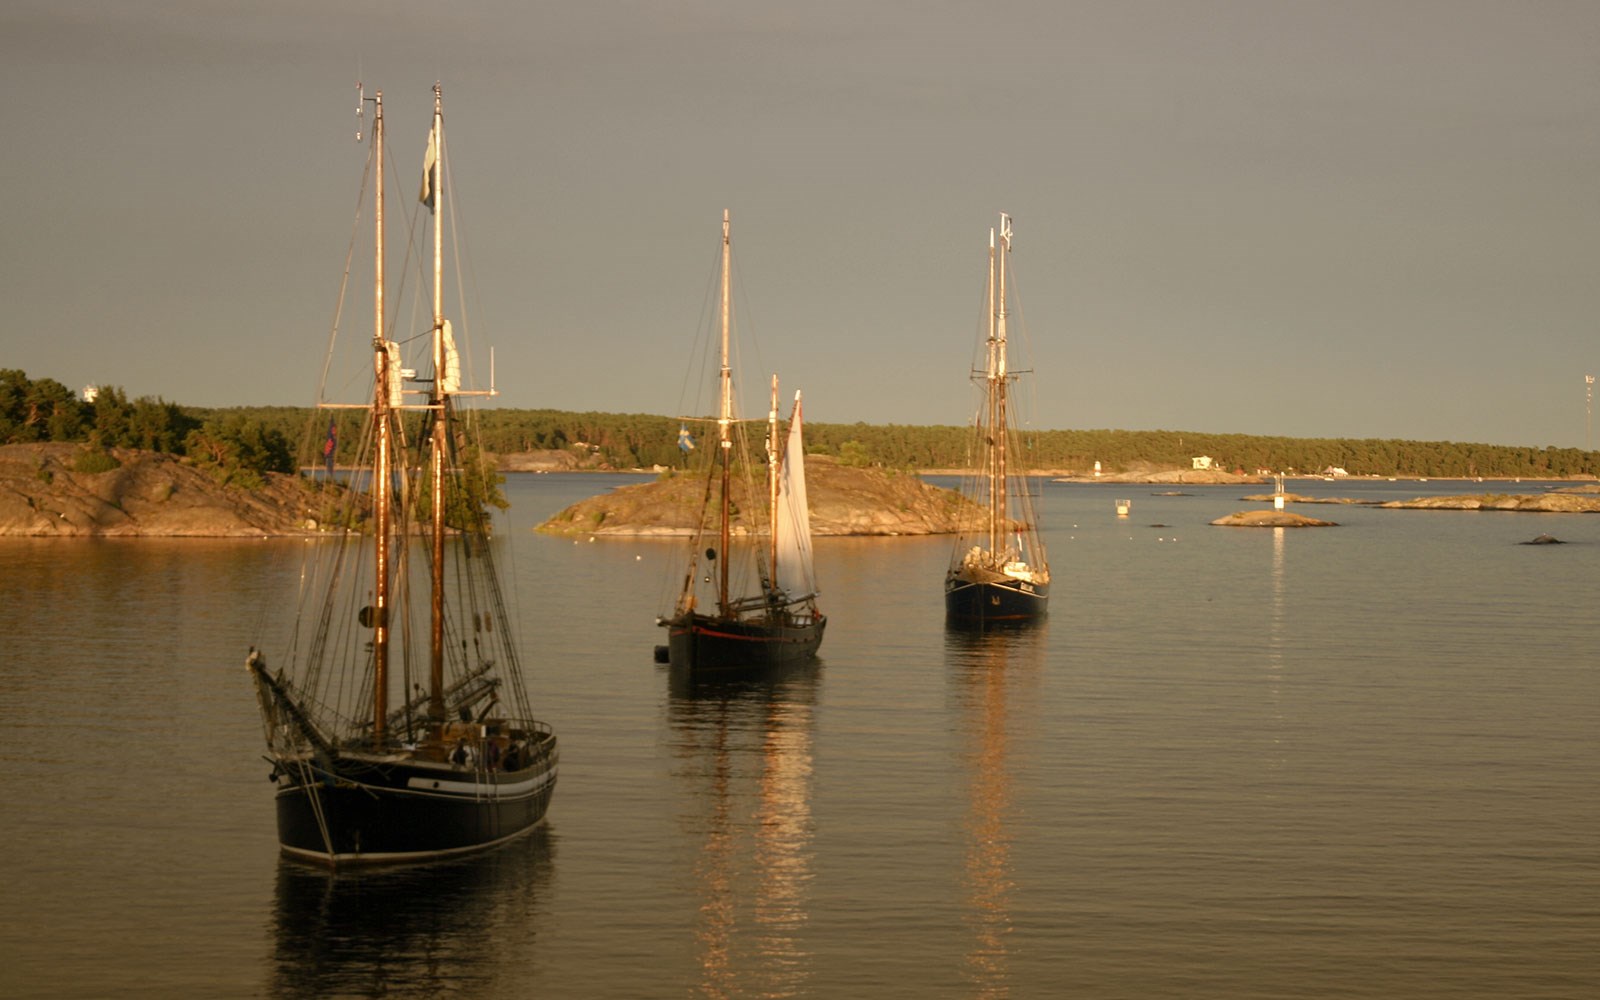
[[[461,861],[328,872],[280,859],[274,997],[506,994],[496,973],[538,947],[547,827]]]

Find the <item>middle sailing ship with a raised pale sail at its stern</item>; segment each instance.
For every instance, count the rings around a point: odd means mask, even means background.
[[[779,442],[778,376],[766,434],[766,502],[738,504],[736,466],[752,467],[744,422],[733,411],[731,250],[728,213],[722,213],[722,366],[717,373],[717,454],[707,464],[698,528],[691,531],[688,570],[667,629],[667,662],[686,670],[739,670],[803,662],[822,645],[827,618],[816,605],[811,522],[806,512],[805,446],[800,394],[789,430]],[[734,454],[738,451],[739,454]],[[747,486],[744,496],[755,493]],[[734,507],[760,517],[734,525]],[[709,542],[709,544],[707,544]]]

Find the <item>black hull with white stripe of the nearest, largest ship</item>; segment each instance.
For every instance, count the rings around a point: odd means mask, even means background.
[[[278,843],[328,866],[466,854],[531,830],[555,792],[550,747],[518,771],[339,755],[278,763]]]

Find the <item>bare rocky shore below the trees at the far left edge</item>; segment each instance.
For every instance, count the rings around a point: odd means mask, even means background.
[[[269,475],[218,485],[171,454],[112,448],[117,467],[82,472],[83,445],[0,446],[0,536],[243,538],[315,531],[315,488]]]

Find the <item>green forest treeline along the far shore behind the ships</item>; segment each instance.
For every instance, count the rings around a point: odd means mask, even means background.
[[[354,454],[360,411],[318,413],[306,406],[179,406],[160,398],[128,400],[102,387],[83,402],[53,379],[30,381],[0,370],[0,442],[83,442],[90,446],[150,448],[211,466],[219,477],[283,472],[323,464],[333,426],[334,461]],[[480,410],[477,435],[488,453],[570,451],[586,467],[682,467],[680,429],[696,442],[712,429],[643,413]],[[806,424],[806,451],[854,466],[962,469],[971,430],[952,426]],[[1600,453],[1464,442],[1382,438],[1293,438],[1192,430],[1040,430],[1024,435],[1024,461],[1035,470],[1086,474],[1187,469],[1197,456],[1229,472],[1350,475],[1570,478],[1600,472]]]

